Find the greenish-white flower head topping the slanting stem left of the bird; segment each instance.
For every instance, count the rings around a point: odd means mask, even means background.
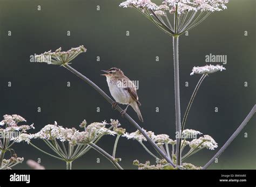
[[[62,48],[58,48],[55,52],[45,52],[41,55],[36,55],[35,59],[37,62],[46,62],[48,64],[60,65],[69,64],[70,61],[75,59],[80,53],[86,52],[84,46],[71,48],[69,51],[62,52]]]

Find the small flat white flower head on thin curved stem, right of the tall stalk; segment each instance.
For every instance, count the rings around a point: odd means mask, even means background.
[[[223,71],[223,70],[226,70],[226,68],[224,68],[223,66],[220,66],[220,65],[213,66],[210,64],[210,66],[206,65],[201,67],[193,67],[192,73],[190,75],[194,75],[194,74],[208,75],[208,74],[212,74],[217,71]]]

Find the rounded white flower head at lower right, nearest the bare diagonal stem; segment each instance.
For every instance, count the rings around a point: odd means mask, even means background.
[[[210,150],[214,150],[218,147],[218,143],[210,135],[204,135],[199,139],[194,139],[190,142],[190,147],[193,149],[201,149],[207,148]]]

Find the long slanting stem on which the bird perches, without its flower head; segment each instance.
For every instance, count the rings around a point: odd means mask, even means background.
[[[106,93],[100,89],[95,83],[93,83],[91,80],[89,80],[89,78],[85,77],[84,75],[82,75],[81,73],[79,73],[76,69],[72,68],[71,66],[69,66],[68,64],[65,64],[64,67],[66,69],[68,69],[69,71],[71,71],[73,74],[75,74],[76,76],[78,76],[79,78],[81,78],[83,81],[85,81],[86,83],[88,83],[89,85],[91,85],[91,87],[93,87],[94,89],[96,89],[96,91],[98,91],[100,93],[100,95],[102,95],[110,104],[113,103],[113,100],[106,95]],[[120,106],[116,106],[116,109],[121,112],[123,109]],[[153,142],[153,140],[143,131],[142,127],[140,127],[127,113],[124,114],[124,117],[130,121],[130,123],[137,128],[137,130],[140,131],[140,133],[142,133],[145,138],[147,139],[147,141],[149,141],[149,143],[157,150],[157,152],[159,153],[159,155],[161,155],[167,162],[169,162],[173,167],[175,167],[175,165],[173,164],[173,162],[167,157],[167,155],[165,155],[162,150],[156,145],[156,143]]]

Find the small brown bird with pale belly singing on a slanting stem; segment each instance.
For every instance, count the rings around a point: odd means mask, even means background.
[[[139,120],[143,122],[142,114],[140,113],[139,98],[136,91],[136,86],[133,82],[124,75],[123,71],[118,68],[110,68],[109,70],[102,70],[106,76],[107,85],[109,85],[109,90],[116,102],[112,103],[112,107],[116,106],[118,103],[127,105],[125,110],[123,110],[122,116],[125,114],[129,105],[132,106],[133,110],[137,112]]]

